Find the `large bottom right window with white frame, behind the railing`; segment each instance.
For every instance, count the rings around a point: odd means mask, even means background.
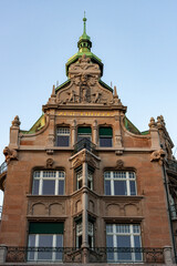
[[[140,226],[137,224],[106,225],[107,262],[140,262]],[[113,249],[112,249],[113,248]],[[135,249],[136,248],[136,249]]]

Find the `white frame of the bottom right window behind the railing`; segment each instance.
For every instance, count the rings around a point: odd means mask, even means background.
[[[119,226],[121,231],[117,232],[116,231],[116,226]],[[112,231],[108,229],[108,227],[111,228],[112,227]],[[127,231],[127,228],[129,227],[129,229]],[[106,236],[113,236],[113,247],[117,248],[117,239],[116,237],[117,236],[131,236],[131,248],[135,247],[135,242],[134,242],[134,236],[139,236],[139,243],[140,243],[140,247],[142,247],[142,236],[140,236],[140,225],[138,224],[107,224],[106,225]],[[132,255],[132,259],[129,259],[128,262],[142,262],[143,259],[143,256],[142,256],[142,259],[136,259],[135,257],[135,253],[131,253]],[[118,262],[118,254],[116,252],[114,252],[114,262]],[[110,260],[110,262],[113,262],[113,260]]]

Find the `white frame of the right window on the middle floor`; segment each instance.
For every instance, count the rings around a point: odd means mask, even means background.
[[[110,173],[110,177],[105,176]],[[125,174],[125,177],[115,177],[114,174]],[[111,193],[106,193],[106,182],[110,181],[110,191]],[[125,194],[115,194],[115,183],[114,182],[125,182]],[[134,182],[135,194],[132,193],[131,182]],[[136,174],[134,171],[104,171],[104,194],[106,196],[136,196],[137,195],[137,183],[136,183]]]

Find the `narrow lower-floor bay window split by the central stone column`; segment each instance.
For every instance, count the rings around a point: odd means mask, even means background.
[[[87,241],[88,241],[88,245],[92,248],[94,246],[94,238],[93,238],[93,223],[88,221],[87,224]],[[82,246],[82,221],[76,223],[76,247],[81,248]]]

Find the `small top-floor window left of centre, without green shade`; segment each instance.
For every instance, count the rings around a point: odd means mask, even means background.
[[[62,126],[56,129],[56,145],[70,146],[70,127]]]

